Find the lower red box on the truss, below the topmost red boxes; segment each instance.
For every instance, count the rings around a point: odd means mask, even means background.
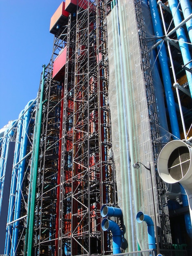
[[[61,81],[64,77],[66,57],[67,46],[65,46],[65,48],[61,50],[60,54],[56,57],[54,61],[53,79],[56,81]]]

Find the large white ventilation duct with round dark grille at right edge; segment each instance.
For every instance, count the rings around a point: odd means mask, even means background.
[[[192,148],[181,140],[170,141],[159,154],[157,168],[164,182],[179,182],[185,189],[192,222]]]

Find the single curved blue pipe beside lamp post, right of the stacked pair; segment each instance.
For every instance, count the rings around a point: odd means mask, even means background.
[[[147,223],[149,249],[156,249],[154,223],[152,218],[149,215],[144,214],[142,211],[139,211],[136,215],[136,220],[138,223],[143,221]]]

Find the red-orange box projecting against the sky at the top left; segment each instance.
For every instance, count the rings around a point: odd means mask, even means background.
[[[54,15],[51,17],[49,31],[52,34],[57,34],[57,26],[67,25],[69,12],[65,10],[65,2],[62,2]]]

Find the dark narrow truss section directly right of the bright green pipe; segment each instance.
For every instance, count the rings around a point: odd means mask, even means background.
[[[45,69],[45,85],[37,176],[34,253],[54,255],[58,186],[58,148],[62,86],[51,81],[51,64]]]

